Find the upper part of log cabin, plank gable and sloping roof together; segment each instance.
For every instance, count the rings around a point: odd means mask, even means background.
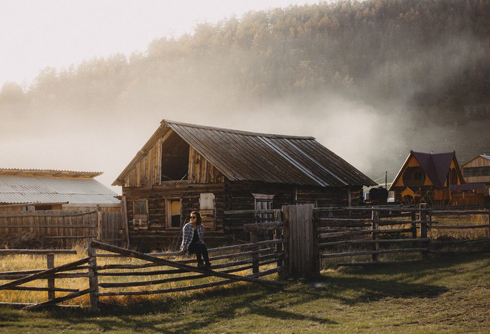
[[[165,181],[164,176],[168,176],[163,173],[165,157],[160,155],[172,155],[165,150],[172,145],[165,143],[179,142],[176,136],[180,137],[181,143],[184,141],[189,145],[187,175],[182,179],[191,183],[223,182],[226,176],[231,181],[321,187],[376,185],[312,137],[259,134],[168,120],[161,122],[159,129],[113,185],[141,187],[148,179],[146,184],[151,187]],[[173,154],[179,155],[182,164],[178,165],[183,171],[184,149]],[[196,173],[197,168],[199,173]],[[138,182],[138,179],[143,181]]]

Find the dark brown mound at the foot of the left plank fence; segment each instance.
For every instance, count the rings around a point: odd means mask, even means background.
[[[44,235],[32,232],[0,235],[2,249],[47,249],[56,248],[57,241],[47,239]]]

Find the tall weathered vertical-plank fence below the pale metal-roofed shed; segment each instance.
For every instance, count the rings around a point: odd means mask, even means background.
[[[100,209],[0,212],[0,234],[36,233],[59,248],[95,239],[122,245],[126,242],[123,222],[121,212]]]

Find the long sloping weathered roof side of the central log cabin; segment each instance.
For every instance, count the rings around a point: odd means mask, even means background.
[[[323,187],[376,185],[313,137],[260,134],[163,120],[235,181]]]

